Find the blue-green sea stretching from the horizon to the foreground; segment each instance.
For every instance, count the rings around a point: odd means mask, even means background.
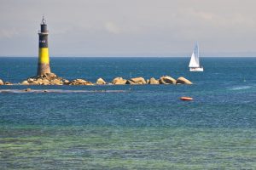
[[[50,59],[68,80],[193,85],[21,86],[38,59],[0,57],[0,169],[256,169],[256,58]]]

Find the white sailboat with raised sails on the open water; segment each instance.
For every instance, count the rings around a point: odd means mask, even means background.
[[[200,65],[199,60],[199,47],[198,43],[196,42],[195,48],[191,55],[191,59],[189,62],[189,71],[204,71],[204,68]]]

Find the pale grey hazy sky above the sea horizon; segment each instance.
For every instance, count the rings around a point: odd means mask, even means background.
[[[0,56],[256,56],[255,0],[0,0]]]

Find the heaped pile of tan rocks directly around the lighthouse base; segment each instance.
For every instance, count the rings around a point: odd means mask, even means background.
[[[65,82],[69,81],[61,77],[57,77],[54,73],[45,73],[44,75],[37,77],[30,77],[21,82],[21,85],[63,85]]]

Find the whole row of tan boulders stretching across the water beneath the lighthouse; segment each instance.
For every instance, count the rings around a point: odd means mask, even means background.
[[[91,85],[145,85],[145,84],[193,84],[188,79],[184,77],[178,77],[174,79],[169,76],[163,76],[159,79],[155,79],[151,77],[150,79],[145,80],[143,77],[134,77],[131,79],[124,79],[123,77],[115,77],[113,78],[112,82],[105,82],[102,77],[98,78],[95,83],[88,82],[84,79],[75,79],[69,81],[62,77],[58,77],[54,73],[46,73],[44,75],[40,75],[37,77],[29,77],[23,82],[20,82],[15,85],[84,85],[84,86],[91,86]],[[11,82],[3,82],[0,79],[0,85],[13,85]]]

